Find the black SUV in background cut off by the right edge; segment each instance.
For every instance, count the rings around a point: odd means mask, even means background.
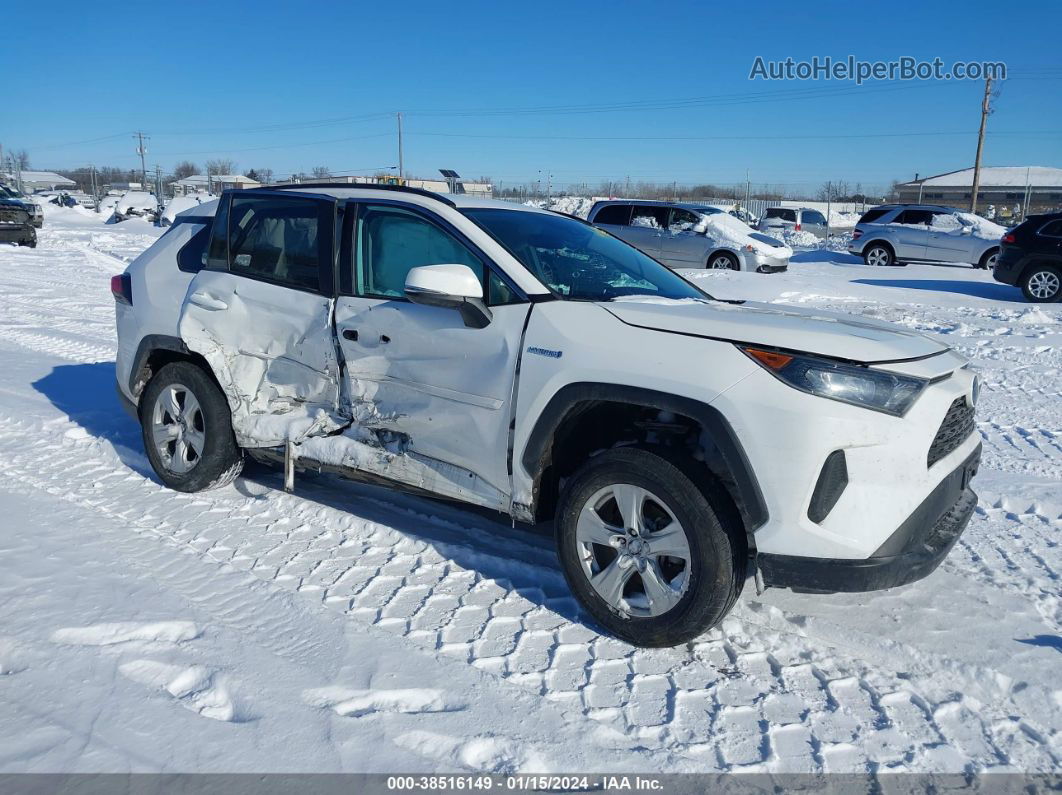
[[[1029,215],[1007,232],[992,275],[1022,288],[1026,300],[1054,304],[1062,298],[1062,212]]]

